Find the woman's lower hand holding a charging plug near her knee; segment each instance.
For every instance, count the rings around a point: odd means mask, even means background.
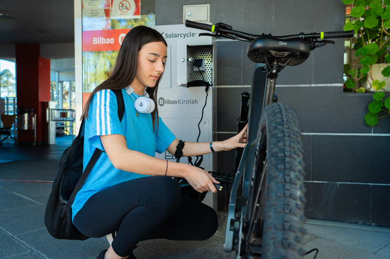
[[[187,175],[184,178],[198,192],[212,191],[215,193],[216,188],[213,183],[219,184],[210,173],[195,166],[189,166]]]

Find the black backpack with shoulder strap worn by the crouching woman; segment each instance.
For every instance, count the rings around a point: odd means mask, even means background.
[[[122,121],[125,111],[122,91],[112,91],[117,96],[118,117],[119,121]],[[96,149],[83,173],[84,128],[83,119],[78,136],[61,155],[59,170],[46,206],[45,225],[49,233],[57,239],[86,240],[89,238],[81,234],[73,224],[71,206],[102,151]]]

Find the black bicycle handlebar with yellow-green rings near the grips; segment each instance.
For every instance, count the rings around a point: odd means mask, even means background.
[[[247,34],[240,31],[234,31],[233,27],[226,27],[226,26],[220,26],[220,23],[217,23],[215,25],[209,25],[204,24],[200,22],[190,21],[186,20],[186,27],[209,31],[209,32],[216,32],[220,36],[224,35],[234,35],[239,38],[243,38],[249,41],[254,40],[257,37],[260,37],[262,35],[254,35],[254,34]],[[227,25],[229,26],[229,25]],[[227,29],[226,29],[227,28]],[[222,34],[222,35],[221,35]],[[313,39],[331,39],[331,38],[351,38],[355,35],[355,32],[352,31],[340,31],[340,32],[321,32],[321,33],[312,33],[312,34],[298,34],[298,35],[284,35],[284,36],[273,36],[275,38],[279,39],[292,39],[292,38],[300,38],[304,40],[313,40]]]

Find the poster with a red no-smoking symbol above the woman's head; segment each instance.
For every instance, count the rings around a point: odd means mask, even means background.
[[[112,19],[141,18],[140,0],[111,0]]]

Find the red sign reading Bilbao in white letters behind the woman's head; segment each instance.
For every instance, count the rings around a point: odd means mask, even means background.
[[[118,51],[130,29],[85,31],[82,33],[82,51]]]

